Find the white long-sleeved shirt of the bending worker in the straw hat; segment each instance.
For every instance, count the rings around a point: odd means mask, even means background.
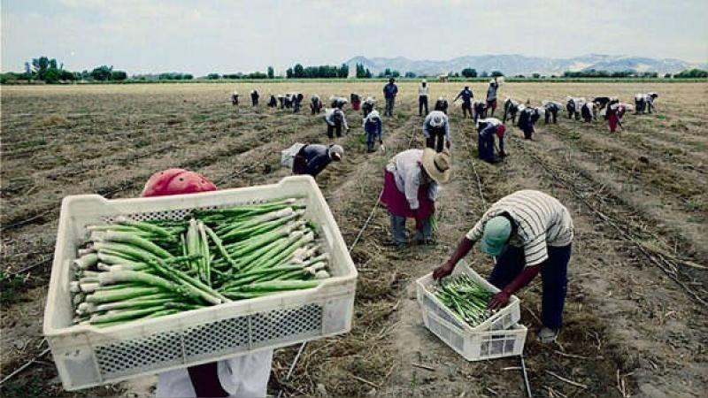
[[[411,210],[420,207],[418,190],[427,184],[427,197],[431,201],[437,199],[438,186],[435,180],[423,175],[423,150],[408,149],[391,158],[386,170],[396,178],[396,188],[403,192]]]

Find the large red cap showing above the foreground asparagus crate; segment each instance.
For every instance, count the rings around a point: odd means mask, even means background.
[[[145,188],[142,188],[142,196],[195,194],[215,190],[214,183],[201,174],[184,169],[167,169],[150,176]]]

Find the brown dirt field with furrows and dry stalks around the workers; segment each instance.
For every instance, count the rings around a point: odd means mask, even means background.
[[[458,83],[431,84],[452,99]],[[475,96],[486,85],[472,84]],[[234,107],[229,94],[242,93]],[[261,106],[248,101],[251,88]],[[397,251],[386,245],[389,217],[374,207],[389,157],[422,148],[415,84],[399,85],[396,115],[385,119],[386,153],[366,154],[360,114],[336,142],[342,163],[318,177],[347,244],[372,220],[351,255],[359,270],[351,333],[312,341],[291,379],[296,348],[276,352],[270,390],[315,396],[522,396],[519,358],[466,362],[422,323],[414,281],[442,263],[489,203],[522,188],[549,192],[573,213],[576,238],[565,326],[558,343],[535,341],[541,287],[519,292],[530,386],[536,396],[704,396],[708,389],[708,135],[704,83],[510,83],[505,96],[538,104],[566,96],[659,93],[655,114],[632,115],[609,134],[601,118],[536,125],[534,141],[507,125],[509,157],[476,158],[470,119],[451,107],[454,174],[438,203],[437,245]],[[42,340],[42,315],[65,195],[140,194],[151,173],[202,172],[219,188],[280,180],[280,150],[328,142],[321,116],[266,108],[268,93],[305,98],[358,92],[380,83],[165,84],[2,88],[2,374],[36,358],[5,382],[4,396],[149,396],[154,378],[66,392]],[[497,115],[501,119],[500,110]],[[411,226],[412,227],[412,226]],[[486,275],[491,260],[468,260]]]

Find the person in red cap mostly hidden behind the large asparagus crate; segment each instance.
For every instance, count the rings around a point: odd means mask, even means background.
[[[142,196],[193,194],[216,189],[212,181],[196,172],[169,169],[153,174],[142,189]],[[266,349],[211,364],[165,371],[158,375],[155,396],[266,396],[272,361],[273,350]]]

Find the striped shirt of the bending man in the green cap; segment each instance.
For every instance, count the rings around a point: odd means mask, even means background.
[[[508,213],[517,226],[509,244],[524,249],[526,264],[537,265],[548,258],[547,246],[563,247],[573,241],[573,218],[566,206],[553,196],[531,189],[514,192],[492,204],[467,233],[479,241],[490,218]]]

